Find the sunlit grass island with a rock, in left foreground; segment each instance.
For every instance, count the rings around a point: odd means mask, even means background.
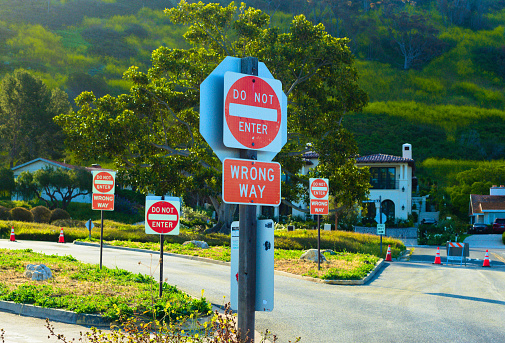
[[[32,281],[24,277],[27,264],[43,263],[53,278]],[[99,269],[72,256],[44,255],[30,250],[0,250],[0,299],[36,306],[61,308],[77,313],[100,314],[111,321],[135,315],[147,320],[176,320],[206,315],[210,304],[193,299],[176,287],[151,276],[123,269]]]

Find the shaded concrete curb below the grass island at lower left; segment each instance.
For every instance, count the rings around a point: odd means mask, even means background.
[[[110,321],[97,314],[75,313],[71,311],[18,304],[12,301],[0,300],[0,311],[25,317],[47,318],[56,322],[75,324],[97,328],[109,328]]]

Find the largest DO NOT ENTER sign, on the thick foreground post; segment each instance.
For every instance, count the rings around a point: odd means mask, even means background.
[[[280,151],[281,101],[279,80],[225,73],[223,144],[229,148]]]

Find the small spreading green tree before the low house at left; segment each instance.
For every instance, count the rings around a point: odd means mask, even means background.
[[[34,173],[22,172],[16,179],[16,192],[26,200],[36,197],[50,209],[59,204],[66,209],[72,199],[91,193],[91,183],[91,173],[84,168],[46,167]]]

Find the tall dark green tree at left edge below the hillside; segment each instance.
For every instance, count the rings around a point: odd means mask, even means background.
[[[63,137],[53,117],[69,112],[66,94],[50,91],[22,69],[5,76],[0,89],[0,146],[8,152],[10,167],[36,157],[58,158]]]

